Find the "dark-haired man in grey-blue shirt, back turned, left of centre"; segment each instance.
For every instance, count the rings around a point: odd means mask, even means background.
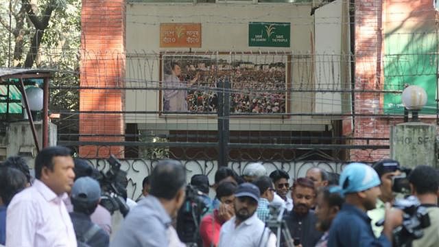
[[[171,218],[185,202],[186,172],[178,161],[160,161],[151,174],[150,195],[128,213],[110,246],[170,246]]]

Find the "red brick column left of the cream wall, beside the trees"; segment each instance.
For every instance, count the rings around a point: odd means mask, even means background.
[[[80,141],[123,141],[126,5],[124,0],[82,1]],[[95,135],[93,137],[93,135]],[[123,146],[82,145],[81,157],[123,157]]]

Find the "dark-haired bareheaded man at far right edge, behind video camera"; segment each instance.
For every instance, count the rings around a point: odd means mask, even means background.
[[[412,246],[439,246],[438,174],[433,167],[419,165],[410,173],[409,182],[412,195],[427,208],[430,217],[430,226],[423,230],[423,237],[412,242]]]

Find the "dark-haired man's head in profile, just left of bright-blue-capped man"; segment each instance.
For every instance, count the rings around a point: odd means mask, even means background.
[[[343,202],[344,199],[340,193],[331,193],[331,187],[323,187],[318,191],[316,198],[316,216],[318,222],[316,228],[324,234],[316,244],[316,247],[327,247],[329,228],[331,227],[335,215],[342,209]]]

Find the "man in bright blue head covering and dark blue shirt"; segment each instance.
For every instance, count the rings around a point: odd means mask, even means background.
[[[378,238],[366,214],[368,210],[375,209],[381,194],[380,184],[378,174],[372,167],[363,163],[346,166],[338,188],[346,202],[329,230],[329,247],[392,246],[392,229],[402,223],[402,211],[390,211],[390,204],[386,204],[383,235]]]

